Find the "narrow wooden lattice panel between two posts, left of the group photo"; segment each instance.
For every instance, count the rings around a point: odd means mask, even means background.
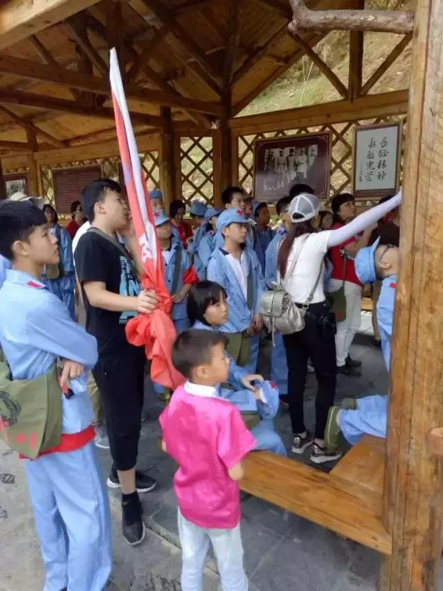
[[[187,205],[193,200],[213,201],[213,159],[212,137],[180,138],[181,194]]]

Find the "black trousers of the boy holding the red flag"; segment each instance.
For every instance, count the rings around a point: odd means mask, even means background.
[[[102,396],[109,448],[117,470],[137,461],[143,409],[146,356],[144,347],[100,355],[93,376]]]

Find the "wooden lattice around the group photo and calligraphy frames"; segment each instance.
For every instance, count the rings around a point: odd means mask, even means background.
[[[266,132],[252,135],[238,136],[238,184],[253,192],[254,188],[254,142],[262,138],[274,138],[291,136],[296,134],[317,133],[323,131],[332,132],[332,158],[331,158],[331,184],[330,193],[350,191],[352,188],[352,145],[354,143],[354,127],[356,125],[374,125],[377,123],[402,121],[403,134],[406,132],[406,115],[397,117],[379,117],[365,119],[364,121],[352,121],[347,123],[334,123],[333,125],[316,125],[314,127],[297,127],[291,130],[278,132]],[[402,142],[402,146],[404,141]],[[402,154],[403,156],[403,154]]]

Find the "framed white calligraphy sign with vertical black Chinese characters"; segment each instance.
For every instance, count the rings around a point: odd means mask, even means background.
[[[401,123],[355,127],[354,197],[395,195],[399,190],[400,160]]]

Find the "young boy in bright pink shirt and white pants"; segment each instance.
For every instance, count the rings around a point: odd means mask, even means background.
[[[172,349],[172,362],[187,381],[160,416],[162,446],[179,464],[174,491],[179,504],[183,553],[181,588],[203,591],[209,543],[214,548],[223,591],[246,591],[240,536],[237,480],[242,459],[255,447],[237,407],[216,398],[228,379],[225,339],[212,330],[185,330]]]

